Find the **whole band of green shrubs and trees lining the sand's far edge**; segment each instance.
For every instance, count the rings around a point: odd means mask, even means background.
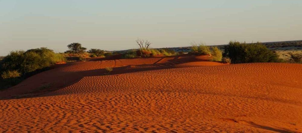
[[[148,40],[137,39],[136,44],[139,46],[136,50],[130,50],[126,53],[111,53],[100,49],[90,49],[82,47],[82,44],[72,43],[67,45],[65,53],[55,53],[53,50],[45,47],[31,49],[27,51],[11,51],[6,57],[0,60],[0,89],[16,85],[23,79],[36,73],[48,70],[56,63],[65,63],[66,57],[78,57],[80,61],[85,61],[89,57],[107,57],[114,54],[120,55],[121,58],[151,57],[151,56],[172,56],[185,54],[175,52],[169,49],[152,49],[151,42]],[[230,41],[224,46],[224,50],[215,46],[206,46],[203,44],[193,43],[191,55],[207,55],[212,60],[223,63],[253,63],[253,62],[291,62],[302,63],[302,54],[292,54],[289,61],[284,61],[278,55],[269,50],[262,43],[246,44],[245,42]]]

